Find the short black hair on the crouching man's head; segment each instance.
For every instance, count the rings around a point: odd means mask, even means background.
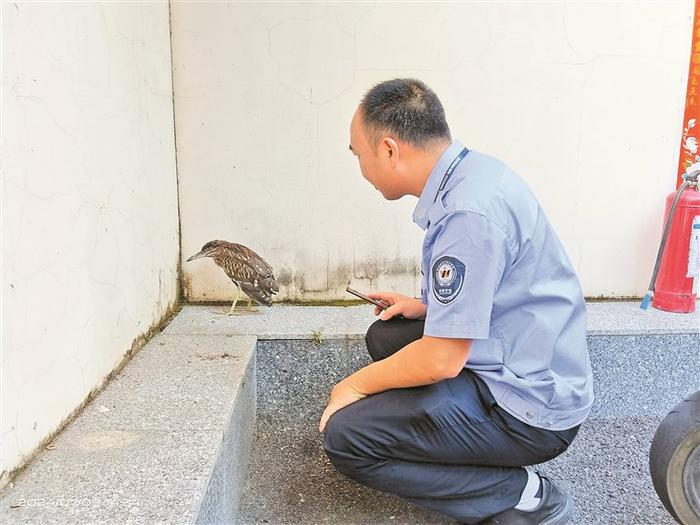
[[[434,142],[452,140],[440,99],[415,78],[377,84],[363,97],[360,108],[373,146],[385,133],[422,149]]]

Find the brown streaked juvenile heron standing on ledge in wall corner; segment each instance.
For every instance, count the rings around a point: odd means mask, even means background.
[[[228,315],[233,314],[240,290],[248,296],[249,310],[251,299],[258,304],[272,306],[272,295],[279,292],[272,267],[253,250],[235,242],[209,241],[187,262],[201,257],[213,258],[236,285],[236,297]]]

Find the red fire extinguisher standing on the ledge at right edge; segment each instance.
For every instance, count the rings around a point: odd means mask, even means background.
[[[644,310],[651,299],[652,306],[659,310],[695,311],[700,281],[699,174],[698,164],[688,168],[678,191],[666,198],[664,231],[649,290],[642,301]]]

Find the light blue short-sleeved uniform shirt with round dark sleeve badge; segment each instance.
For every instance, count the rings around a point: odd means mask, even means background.
[[[465,366],[504,410],[571,428],[593,403],[581,286],[534,195],[503,162],[469,151],[444,180],[463,149],[455,141],[443,153],[413,213],[426,231],[424,334],[472,339]]]

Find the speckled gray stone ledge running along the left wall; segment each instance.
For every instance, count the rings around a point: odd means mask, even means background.
[[[154,337],[0,495],[1,521],[231,523],[255,421],[255,344]]]

